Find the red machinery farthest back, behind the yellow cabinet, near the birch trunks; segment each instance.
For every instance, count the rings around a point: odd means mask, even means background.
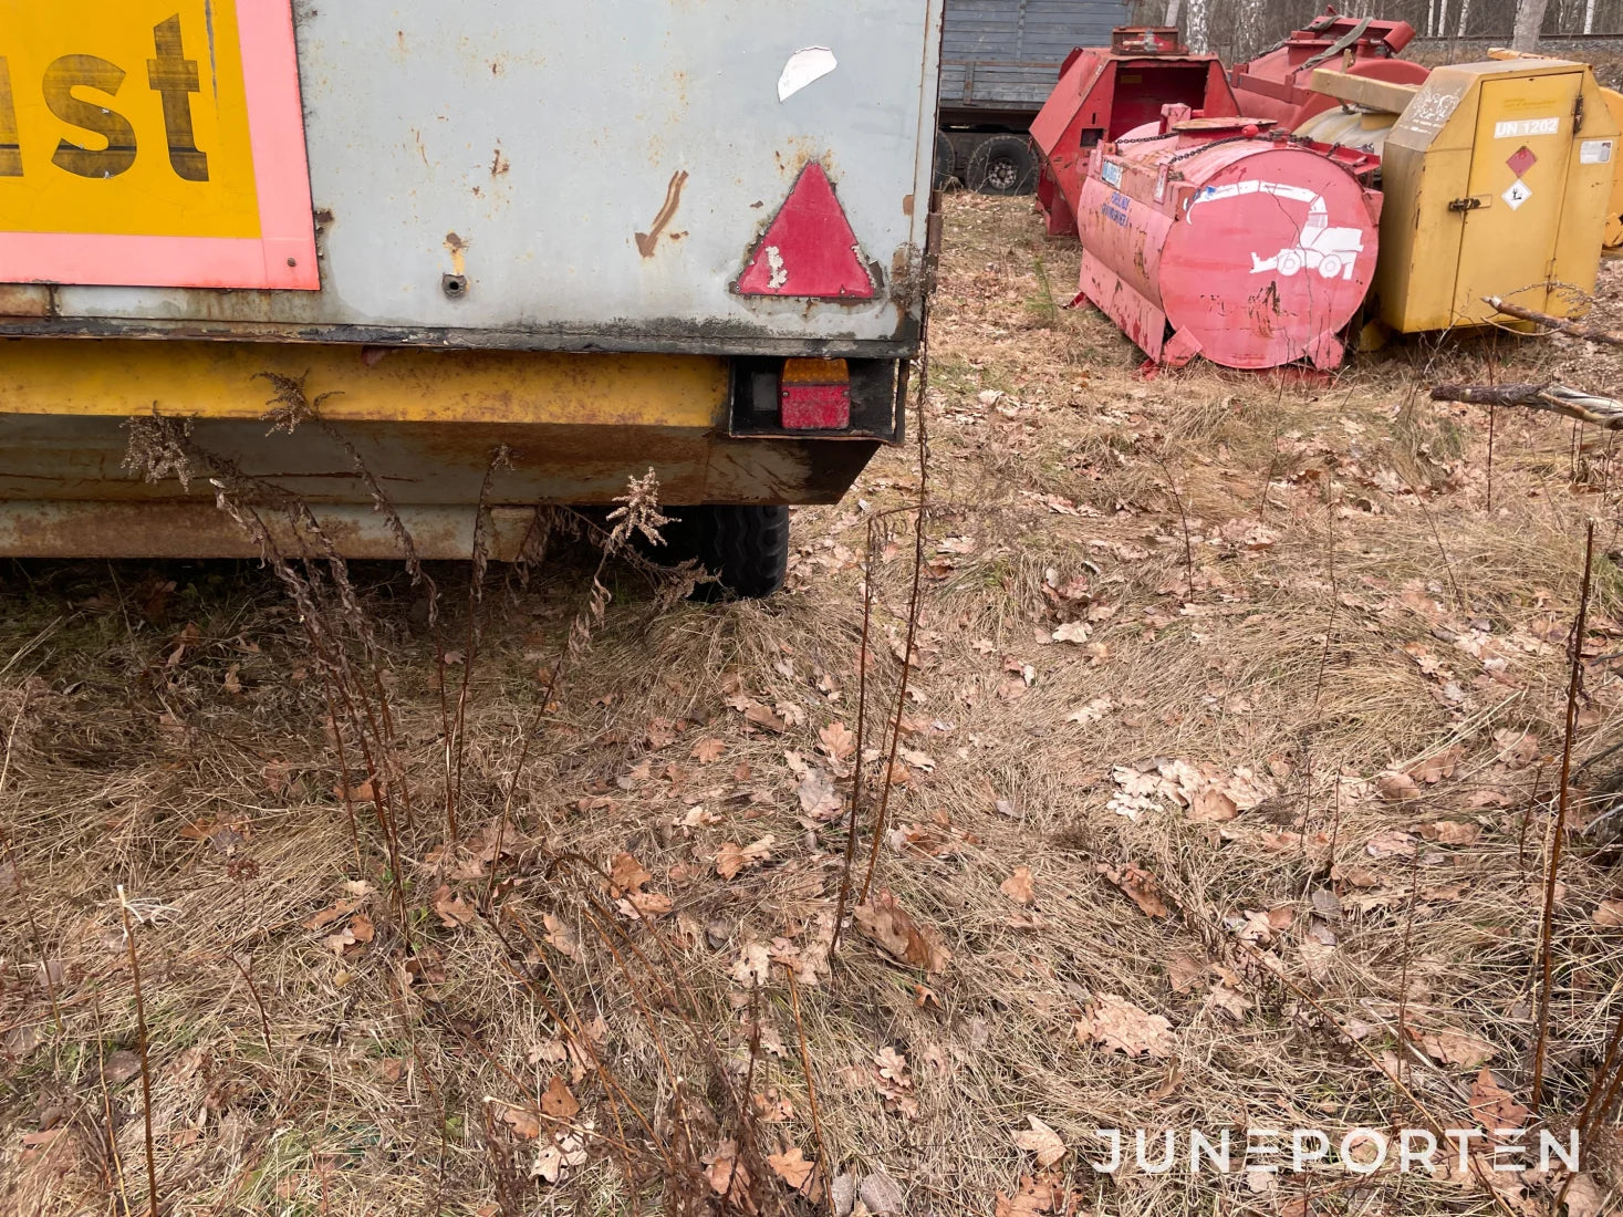
[[[1238,112],[1250,118],[1272,118],[1295,131],[1316,114],[1339,102],[1313,92],[1313,70],[1336,68],[1349,76],[1423,84],[1428,70],[1410,60],[1394,58],[1409,45],[1415,29],[1407,21],[1376,21],[1341,16],[1334,8],[1295,29],[1276,47],[1250,63],[1237,63],[1229,75]]]

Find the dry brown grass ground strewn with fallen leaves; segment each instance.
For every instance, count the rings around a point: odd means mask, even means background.
[[[725,1139],[818,1157],[802,1029],[834,1172],[888,1175],[909,1214],[992,1212],[1019,1193],[1039,1175],[1014,1144],[1027,1116],[1073,1152],[1011,1212],[1555,1212],[1534,1176],[1496,1176],[1495,1199],[1469,1176],[1350,1186],[1331,1170],[1253,1191],[1238,1172],[1107,1176],[1086,1162],[1100,1126],[1423,1126],[1378,1066],[1399,1051],[1399,1022],[1433,1048],[1440,1032],[1479,1039],[1493,1077],[1527,1100],[1532,889],[1550,824],[1530,795],[1540,774],[1550,793],[1553,769],[1501,753],[1519,732],[1558,751],[1582,526],[1597,518],[1599,548],[1617,548],[1617,471],[1604,438],[1574,454],[1565,424],[1501,412],[1490,510],[1487,417],[1433,406],[1425,388],[1479,378],[1490,354],[1503,380],[1612,368],[1496,336],[1415,342],[1326,383],[1211,368],[1141,381],[1109,323],[1058,307],[1078,255],[1039,234],[1019,201],[951,200],[927,402],[930,565],[878,873],[940,933],[943,970],[899,964],[857,928],[833,967],[820,962],[846,839],[833,808],[808,813],[800,797],[805,772],[849,772],[820,730],[855,729],[867,526],[909,501],[907,451],[839,506],[799,513],[790,591],[774,602],[661,613],[623,573],[540,707],[523,772],[519,740],[592,558],[565,555],[511,604],[492,591],[459,847],[437,811],[440,669],[419,592],[359,570],[398,764],[417,785],[404,922],[365,815],[355,871],[320,672],[268,576],[15,565],[0,612],[0,717],[15,724],[0,789],[0,1211],[144,1206],[122,883],[143,922],[174,1212],[700,1206],[682,1172]],[[899,675],[909,526],[891,521],[875,563],[868,748]],[[450,589],[443,636],[459,639],[466,571],[435,574]],[[1581,761],[1618,722],[1605,656],[1623,647],[1623,581],[1610,557],[1595,578]],[[1071,621],[1091,638],[1053,641]],[[745,717],[751,703],[782,730]],[[1083,707],[1089,720],[1073,720]],[[1371,785],[1456,745],[1417,800]],[[1193,818],[1157,763],[1191,774],[1188,790],[1238,789],[1248,771],[1245,808]],[[1118,795],[1134,771],[1149,793],[1130,818]],[[497,901],[480,915],[480,850],[514,776]],[[1584,789],[1602,777],[1582,774]],[[1477,837],[1422,834],[1438,821]],[[758,860],[717,875],[727,842],[766,837]],[[669,897],[657,935],[623,889],[617,907],[602,879],[555,863],[607,871],[620,854],[651,873],[633,888]],[[1128,865],[1154,876],[1165,915],[1104,873]],[[1000,886],[1021,867],[1029,905]],[[1589,836],[1561,881],[1556,1128],[1623,1009],[1623,931],[1592,920],[1618,883]],[[346,897],[370,941],[326,941],[355,914],[305,928]],[[1269,910],[1271,925],[1246,918]],[[799,1026],[781,967],[758,995],[747,987],[763,951],[800,969]],[[1091,1040],[1105,995],[1169,1021],[1159,1055]],[[1477,1073],[1417,1048],[1404,1086],[1443,1123],[1475,1125]],[[586,1160],[547,1185],[529,1172],[553,1133],[555,1074],[581,1103],[558,1133],[583,1134]],[[737,1120],[727,1092],[745,1082],[768,1120]],[[1613,1128],[1587,1150],[1613,1181]],[[763,1206],[815,1207],[756,1183]]]

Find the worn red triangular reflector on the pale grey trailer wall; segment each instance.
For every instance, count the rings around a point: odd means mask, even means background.
[[[795,178],[738,276],[740,295],[808,295],[821,300],[872,300],[873,279],[862,264],[834,185],[816,161]]]

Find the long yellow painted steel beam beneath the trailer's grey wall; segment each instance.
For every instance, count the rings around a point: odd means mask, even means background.
[[[701,355],[570,355],[269,342],[0,342],[0,414],[258,419],[261,373],[329,394],[334,422],[508,422],[712,428],[727,362]]]

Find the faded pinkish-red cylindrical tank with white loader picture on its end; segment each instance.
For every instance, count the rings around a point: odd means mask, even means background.
[[[1336,367],[1375,277],[1381,200],[1360,180],[1373,157],[1177,117],[1094,151],[1083,295],[1157,363]]]

